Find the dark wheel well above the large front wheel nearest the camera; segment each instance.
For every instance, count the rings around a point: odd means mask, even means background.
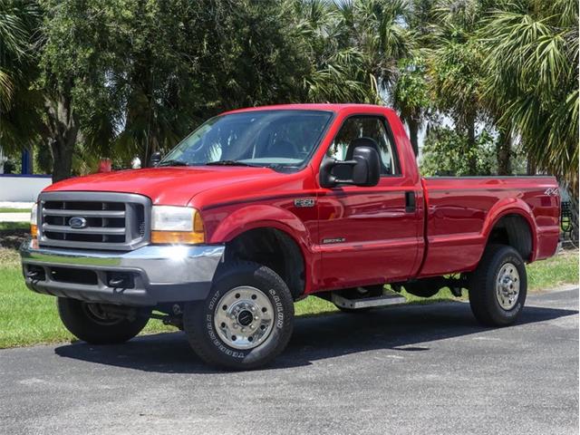
[[[250,229],[226,244],[225,259],[254,261],[270,267],[297,299],[304,293],[304,256],[295,240],[276,228]]]

